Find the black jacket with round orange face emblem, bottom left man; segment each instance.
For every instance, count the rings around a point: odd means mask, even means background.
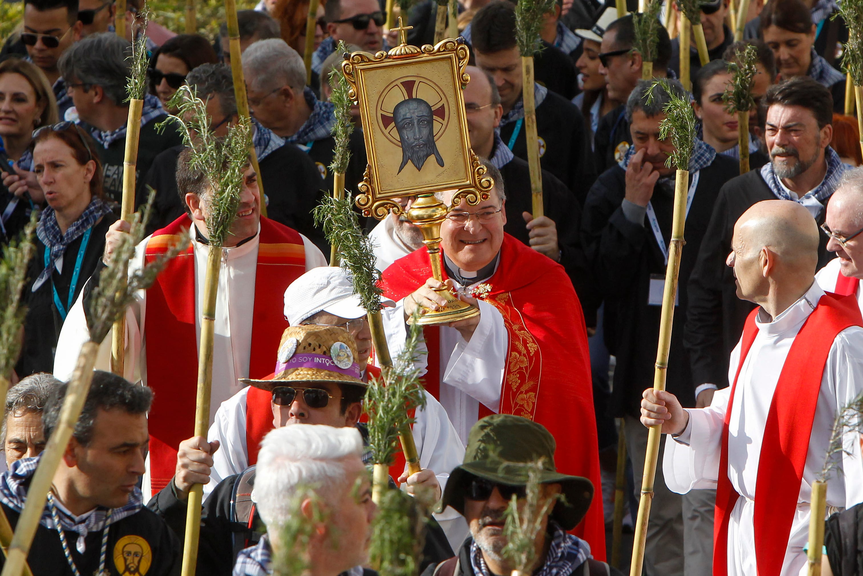
[[[19,513],[3,504],[3,512],[9,518],[9,524],[14,529]],[[66,532],[66,541],[75,567],[81,574],[95,574],[99,566],[99,553],[102,550],[102,531],[90,532],[85,537],[85,552],[79,554],[75,547],[78,534]],[[108,527],[108,546],[105,554],[105,570],[110,576],[126,576],[126,564],[123,560],[123,548],[129,544],[137,544],[143,548],[141,558],[141,573],[144,573],[144,562],[149,563],[147,576],[179,576],[180,574],[180,539],[168,529],[165,522],[150,510],[142,509],[132,516],[113,522]],[[5,554],[0,554],[0,567],[6,561]],[[73,576],[72,568],[63,554],[60,537],[54,529],[47,529],[41,524],[36,529],[33,545],[27,563],[35,576]]]

